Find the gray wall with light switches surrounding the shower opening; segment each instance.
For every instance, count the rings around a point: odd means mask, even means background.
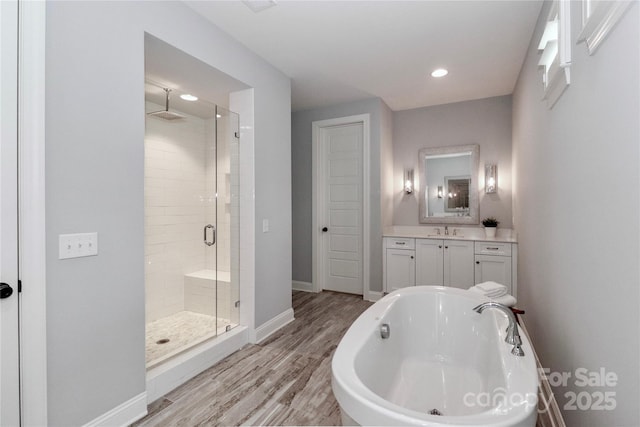
[[[256,325],[291,307],[290,82],[180,3],[50,2],[46,25],[48,424],[82,425],[145,390],[144,32],[255,88]],[[58,260],[88,231],[97,257]]]

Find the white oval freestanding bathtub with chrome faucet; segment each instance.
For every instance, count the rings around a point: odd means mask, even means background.
[[[472,309],[466,290],[416,286],[395,291],[351,325],[332,361],[344,425],[535,426],[538,376],[505,343],[507,317]],[[390,326],[382,339],[380,326]],[[432,410],[442,415],[429,415]]]

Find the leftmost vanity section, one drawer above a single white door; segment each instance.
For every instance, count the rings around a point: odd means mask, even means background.
[[[383,271],[383,289],[393,292],[396,289],[414,286],[416,282],[415,239],[385,238]]]

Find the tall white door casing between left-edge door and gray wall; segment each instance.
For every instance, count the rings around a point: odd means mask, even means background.
[[[19,138],[23,425],[47,424],[45,266],[46,3],[20,1]]]

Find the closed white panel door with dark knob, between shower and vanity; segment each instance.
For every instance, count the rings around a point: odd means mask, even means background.
[[[363,124],[323,128],[324,289],[362,295]]]

